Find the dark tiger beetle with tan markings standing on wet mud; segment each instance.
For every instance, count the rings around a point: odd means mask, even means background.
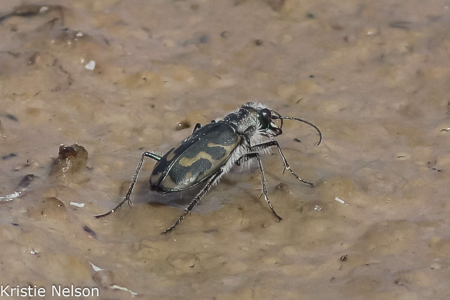
[[[130,195],[136,184],[139,170],[144,164],[144,158],[150,157],[156,161],[150,175],[150,189],[161,194],[179,192],[192,188],[197,184],[204,184],[200,192],[193,198],[176,222],[164,230],[165,234],[180,224],[181,220],[197,205],[198,201],[216,185],[232,166],[241,166],[249,160],[256,160],[261,175],[261,184],[264,198],[272,210],[272,213],[281,220],[275,212],[267,194],[264,169],[261,164],[260,153],[267,152],[268,148],[276,147],[284,163],[284,171],[287,169],[298,180],[313,187],[313,184],[300,178],[288,164],[286,157],[278,144],[272,138],[283,133],[283,119],[296,120],[317,130],[319,133],[319,146],[322,141],[322,133],[316,125],[293,116],[281,116],[273,109],[261,103],[247,102],[235,112],[231,112],[223,119],[212,120],[211,123],[202,126],[197,123],[190,136],[184,139],[177,148],[171,148],[161,156],[158,153],[144,152],[131,179],[130,188],[123,200],[112,210],[103,215],[95,215],[101,218],[112,214],[125,201],[132,204]],[[280,120],[278,127],[273,121]]]

